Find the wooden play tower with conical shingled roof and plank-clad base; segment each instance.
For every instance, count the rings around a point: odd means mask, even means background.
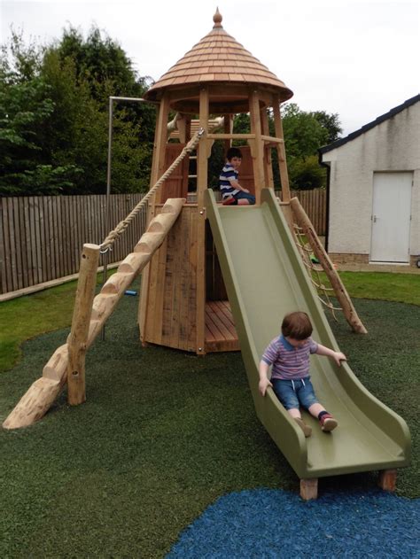
[[[143,275],[138,321],[141,339],[144,344],[198,354],[238,349],[211,231],[206,227],[204,191],[214,141],[222,140],[225,148],[233,140],[246,141],[247,146],[241,147],[244,159],[239,178],[255,194],[257,205],[261,189],[274,188],[271,151],[276,149],[282,206],[292,224],[280,115],[280,105],[292,97],[292,91],[226,33],[219,11],[213,19],[210,33],[146,94],[146,98],[159,102],[151,184],[191,139],[191,120],[192,127],[202,129],[203,138],[197,156],[192,156],[197,158],[194,203],[183,206],[180,219]],[[176,112],[176,117],[168,126],[170,111]],[[275,136],[268,130],[268,112],[274,117]],[[250,134],[232,133],[237,113],[249,113]],[[179,144],[168,142],[169,131],[175,127]],[[215,127],[219,127],[217,132]],[[189,158],[184,159],[177,174],[163,184],[154,200],[153,215],[159,214],[167,198],[188,198],[189,164]]]

